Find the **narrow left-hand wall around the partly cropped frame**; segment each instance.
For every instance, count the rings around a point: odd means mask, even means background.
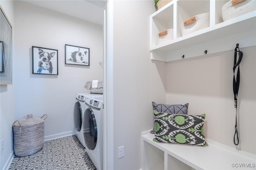
[[[0,0],[0,4],[12,24],[14,25],[14,2]],[[14,35],[12,34],[14,40]],[[14,48],[14,47],[13,47]],[[0,85],[0,141],[4,140],[4,149],[0,154],[0,169],[7,168],[8,160],[12,153],[12,123],[15,110],[13,106],[14,85]]]

